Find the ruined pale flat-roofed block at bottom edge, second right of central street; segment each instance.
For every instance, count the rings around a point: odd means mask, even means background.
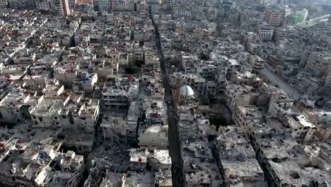
[[[266,186],[265,175],[255,152],[239,127],[222,129],[216,148],[226,186]]]

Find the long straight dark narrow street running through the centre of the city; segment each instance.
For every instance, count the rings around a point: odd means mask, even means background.
[[[172,91],[170,89],[170,83],[168,79],[168,74],[165,71],[164,64],[164,55],[161,47],[161,37],[158,32],[158,26],[153,20],[153,16],[151,15],[151,21],[155,30],[155,40],[156,47],[158,47],[158,57],[161,66],[162,73],[162,83],[165,89],[165,102],[168,103],[170,101],[171,106],[174,106]],[[167,105],[167,114],[168,114],[168,142],[169,142],[169,154],[171,157],[171,161],[173,162],[172,174],[173,174],[173,186],[184,186],[183,182],[183,172],[182,172],[182,157],[181,157],[181,148],[180,148],[180,139],[178,132],[178,123],[176,120],[176,115],[173,111],[170,110],[170,106]]]

